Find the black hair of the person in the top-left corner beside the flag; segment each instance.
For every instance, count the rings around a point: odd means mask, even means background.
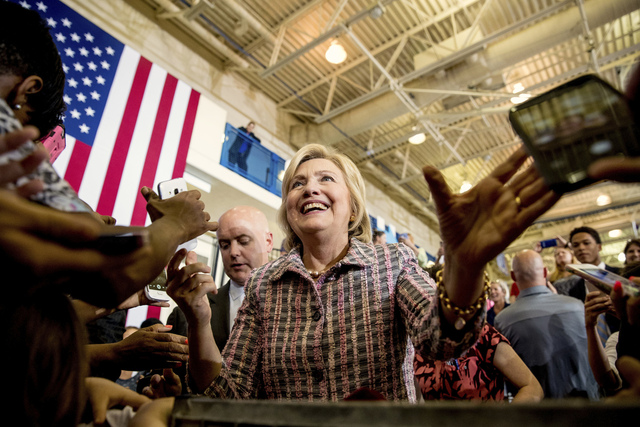
[[[37,127],[43,136],[48,134],[66,109],[58,48],[38,12],[0,1],[0,75],[5,74],[42,79],[40,91],[28,95],[27,104],[33,112],[25,124]]]

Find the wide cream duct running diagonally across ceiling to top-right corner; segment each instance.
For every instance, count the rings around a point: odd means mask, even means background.
[[[589,0],[584,3],[584,12],[589,19],[590,28],[597,28],[637,10],[637,8],[637,0],[619,0],[614,5],[602,0]],[[413,81],[406,82],[404,88],[409,92],[411,88],[467,88],[470,82],[482,81],[495,74],[495,70],[513,66],[538,52],[556,46],[566,40],[568,35],[577,37],[584,30],[581,20],[578,7],[570,7],[486,46],[481,52],[481,61],[466,61],[463,64],[447,68],[444,78],[433,75],[434,70],[437,71],[437,69],[431,66],[425,70],[425,73],[430,72],[430,75],[420,77],[417,74],[413,76]],[[474,46],[470,46],[470,48]],[[482,49],[482,46],[475,47]],[[442,63],[445,64],[445,61],[447,58]],[[419,108],[435,102],[440,97],[435,93],[418,91],[412,93],[412,96],[414,103]],[[358,105],[332,118],[331,123],[293,126],[290,142],[296,147],[302,147],[309,143],[331,145],[343,140],[345,134],[348,136],[358,135],[380,123],[407,113],[405,104],[393,92],[387,91],[366,104]]]

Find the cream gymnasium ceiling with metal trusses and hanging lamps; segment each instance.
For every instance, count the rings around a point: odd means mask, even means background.
[[[422,166],[457,190],[505,160],[519,144],[507,120],[517,86],[535,96],[597,73],[620,88],[640,55],[637,0],[125,1],[297,117],[293,147],[338,148],[433,227]],[[324,57],[334,40],[348,55],[338,65]],[[417,133],[425,142],[410,144]],[[563,197],[511,250],[584,223],[614,257],[639,209],[639,185],[598,184]]]

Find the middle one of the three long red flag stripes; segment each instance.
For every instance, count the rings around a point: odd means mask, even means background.
[[[137,188],[142,188],[143,186],[153,187],[153,180],[156,176],[160,153],[171,114],[171,104],[173,103],[177,85],[178,80],[171,75],[167,75],[164,88],[162,89],[158,115],[156,116],[156,121],[153,126],[147,156],[140,176],[140,183]],[[137,197],[133,208],[133,215],[131,216],[131,225],[144,225],[146,217],[146,203],[142,197]]]

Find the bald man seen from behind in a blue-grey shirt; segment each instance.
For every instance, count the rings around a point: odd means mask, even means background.
[[[598,385],[587,352],[584,305],[547,288],[547,269],[535,251],[516,254],[511,278],[520,295],[495,318],[509,341],[538,379],[545,397],[598,398]]]

